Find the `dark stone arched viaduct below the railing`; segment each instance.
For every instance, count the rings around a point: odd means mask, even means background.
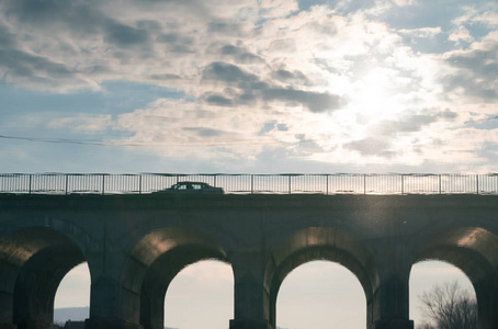
[[[230,329],[274,329],[280,285],[313,260],[354,273],[365,328],[411,329],[427,259],[462,269],[479,328],[498,328],[498,196],[444,194],[0,195],[0,328],[49,328],[59,282],[88,262],[87,329],[162,329],[169,283],[203,259],[234,271]]]

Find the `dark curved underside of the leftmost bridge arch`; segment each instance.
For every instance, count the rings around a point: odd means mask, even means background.
[[[0,324],[18,329],[52,328],[57,287],[84,261],[82,248],[72,238],[49,227],[26,227],[2,235]]]

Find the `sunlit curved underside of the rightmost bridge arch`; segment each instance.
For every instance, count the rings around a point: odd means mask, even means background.
[[[479,329],[498,328],[498,236],[483,227],[459,227],[423,241],[416,262],[441,260],[471,280],[478,307]]]

